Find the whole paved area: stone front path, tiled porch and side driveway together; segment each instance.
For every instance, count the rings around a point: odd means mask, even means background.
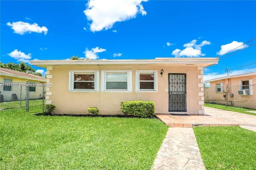
[[[205,107],[205,115],[158,114],[168,129],[152,170],[205,170],[193,126],[240,126],[256,132],[256,116]],[[188,127],[188,128],[184,128]]]

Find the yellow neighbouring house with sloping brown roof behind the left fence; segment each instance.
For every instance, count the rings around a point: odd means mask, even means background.
[[[45,83],[46,79],[30,73],[0,67],[0,102],[26,100],[26,81],[28,83]],[[29,97],[43,97],[41,89],[42,87],[29,86]]]

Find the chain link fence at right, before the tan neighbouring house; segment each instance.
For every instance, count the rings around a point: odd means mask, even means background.
[[[204,88],[204,102],[256,109],[256,85],[224,85]]]

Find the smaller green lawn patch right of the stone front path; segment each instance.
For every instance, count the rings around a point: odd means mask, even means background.
[[[241,127],[193,129],[206,170],[256,169],[256,132]]]

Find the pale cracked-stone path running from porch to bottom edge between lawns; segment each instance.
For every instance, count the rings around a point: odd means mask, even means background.
[[[152,170],[205,170],[192,128],[169,128]]]

